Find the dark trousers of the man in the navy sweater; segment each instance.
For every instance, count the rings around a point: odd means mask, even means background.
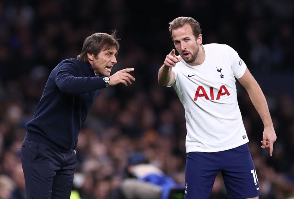
[[[76,155],[59,152],[40,142],[24,140],[21,164],[27,199],[69,199],[73,186]]]

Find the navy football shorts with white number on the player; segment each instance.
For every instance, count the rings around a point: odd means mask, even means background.
[[[218,172],[229,199],[260,195],[248,144],[220,152],[189,152],[185,171],[185,199],[208,199]]]

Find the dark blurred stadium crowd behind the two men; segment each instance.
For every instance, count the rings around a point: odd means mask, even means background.
[[[103,89],[94,103],[79,135],[75,190],[83,199],[119,198],[116,190],[128,177],[130,160],[138,162],[142,154],[183,185],[183,107],[172,88],[157,83],[158,69],[173,48],[168,22],[179,16],[200,22],[204,44],[225,43],[238,51],[258,80],[277,133],[273,157],[260,148],[258,113],[239,84],[237,91],[260,198],[294,197],[293,1],[3,0],[0,199],[25,198],[20,146],[51,70],[76,57],[86,36],[114,29],[121,48],[112,73],[134,67],[136,81]],[[220,176],[211,198],[226,198]]]

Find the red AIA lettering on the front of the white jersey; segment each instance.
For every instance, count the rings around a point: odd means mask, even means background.
[[[214,100],[213,87],[209,87],[209,94],[210,94],[210,100]],[[223,95],[227,95],[227,96],[230,95],[230,93],[229,93],[229,91],[228,91],[228,89],[226,88],[225,85],[220,86],[220,89],[217,92],[216,100],[219,100],[220,96],[223,96]],[[196,93],[195,93],[194,101],[197,101],[198,97],[205,97],[206,100],[209,100],[207,92],[205,91],[203,86],[198,86],[198,88],[196,90]]]

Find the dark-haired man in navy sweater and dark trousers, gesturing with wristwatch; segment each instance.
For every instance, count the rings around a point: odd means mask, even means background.
[[[135,80],[133,68],[110,76],[118,50],[116,32],[94,33],[76,59],[52,70],[21,147],[27,199],[70,198],[77,137],[93,102],[102,88]]]

